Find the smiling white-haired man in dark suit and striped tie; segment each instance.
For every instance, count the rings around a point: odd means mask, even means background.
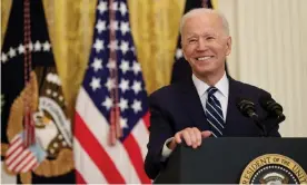
[[[221,13],[194,9],[182,17],[180,33],[192,76],[157,90],[149,98],[151,125],[145,171],[152,179],[177,144],[185,142],[197,148],[206,137],[259,136],[260,129],[237,108],[239,98],[255,103],[259,117],[267,116],[258,100],[270,95],[226,75],[231,37]],[[269,136],[280,136],[278,126]]]

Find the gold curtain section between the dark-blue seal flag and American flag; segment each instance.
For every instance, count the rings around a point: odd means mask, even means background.
[[[43,0],[49,35],[70,116],[83,80],[97,0]]]

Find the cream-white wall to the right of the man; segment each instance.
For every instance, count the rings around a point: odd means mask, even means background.
[[[232,36],[229,71],[271,93],[285,137],[307,136],[307,0],[218,0]]]

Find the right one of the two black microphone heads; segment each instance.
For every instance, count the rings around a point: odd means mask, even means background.
[[[283,114],[283,107],[276,103],[270,96],[263,96],[259,98],[261,107],[267,110],[270,115],[276,116],[277,118],[286,118]],[[285,120],[285,119],[284,119]]]

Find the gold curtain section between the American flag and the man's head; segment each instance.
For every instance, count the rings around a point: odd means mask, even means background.
[[[148,93],[170,82],[185,0],[130,0],[130,22]]]

